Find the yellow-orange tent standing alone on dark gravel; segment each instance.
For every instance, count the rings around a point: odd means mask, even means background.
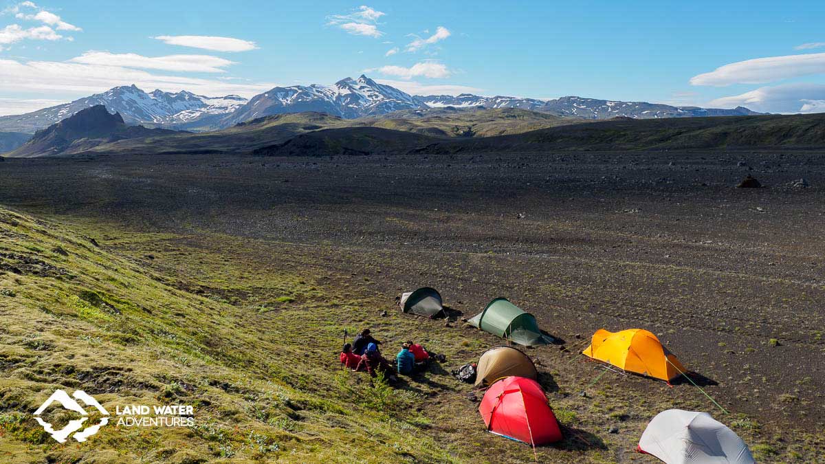
[[[678,359],[662,346],[656,335],[644,329],[608,332],[598,329],[582,351],[587,357],[607,362],[627,372],[670,381],[686,372]]]

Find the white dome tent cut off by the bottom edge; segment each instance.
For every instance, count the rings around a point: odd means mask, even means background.
[[[751,450],[733,430],[708,413],[667,410],[644,429],[639,451],[667,464],[754,464]]]

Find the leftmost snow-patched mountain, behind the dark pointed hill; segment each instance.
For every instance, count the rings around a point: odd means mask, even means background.
[[[187,125],[224,116],[247,102],[237,95],[204,97],[191,92],[144,92],[134,85],[115,87],[74,102],[44,108],[24,115],[0,117],[2,130],[33,132],[73,116],[78,111],[103,105],[120,113],[127,125],[156,125],[183,129]],[[205,121],[206,122],[206,121]]]

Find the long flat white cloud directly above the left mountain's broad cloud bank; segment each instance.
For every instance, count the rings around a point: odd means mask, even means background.
[[[224,69],[234,64],[229,59],[208,54],[170,54],[167,56],[143,56],[134,53],[114,54],[107,51],[87,51],[70,59],[72,63],[119,66],[123,68],[163,69],[196,73],[224,73]]]

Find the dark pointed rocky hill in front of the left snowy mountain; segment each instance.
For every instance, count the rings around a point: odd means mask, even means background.
[[[154,138],[176,133],[174,130],[126,125],[119,113],[111,114],[106,107],[97,105],[78,111],[44,130],[38,130],[31,140],[7,156],[29,158],[78,154],[117,140]]]

